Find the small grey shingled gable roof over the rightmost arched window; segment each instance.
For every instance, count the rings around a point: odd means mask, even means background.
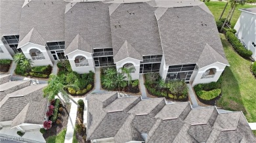
[[[216,62],[220,62],[229,66],[226,58],[216,52],[211,46],[209,46],[209,44],[205,44],[205,48],[203,49],[203,52],[197,62],[198,67],[202,68]]]

